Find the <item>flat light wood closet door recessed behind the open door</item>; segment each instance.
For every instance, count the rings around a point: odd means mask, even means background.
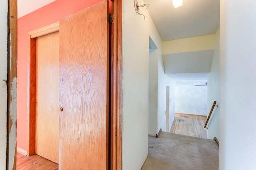
[[[35,153],[58,163],[59,32],[36,38]]]

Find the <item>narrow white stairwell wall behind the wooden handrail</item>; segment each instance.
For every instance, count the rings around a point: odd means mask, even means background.
[[[216,105],[220,102],[220,29],[216,31],[215,50],[212,59],[211,72],[208,73],[208,91],[207,91],[207,115],[209,115],[212,104],[216,101]],[[208,122],[207,138],[219,140],[219,109],[214,107],[211,118]]]

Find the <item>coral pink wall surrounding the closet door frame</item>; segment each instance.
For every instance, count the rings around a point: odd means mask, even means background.
[[[24,150],[27,147],[28,32],[59,21],[100,1],[102,0],[56,0],[18,18],[17,147]]]

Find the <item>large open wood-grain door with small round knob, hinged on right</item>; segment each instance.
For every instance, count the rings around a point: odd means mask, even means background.
[[[60,20],[60,170],[108,163],[108,1]]]

